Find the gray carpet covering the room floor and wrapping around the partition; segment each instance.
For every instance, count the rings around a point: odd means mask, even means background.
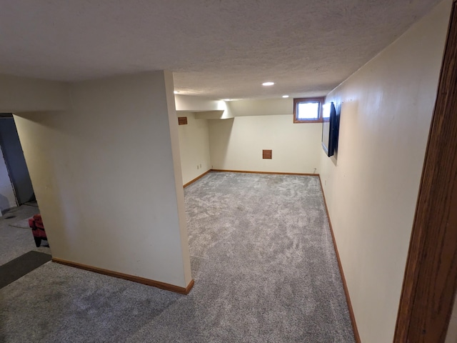
[[[0,342],[353,342],[317,177],[211,172],[185,201],[189,295],[49,262],[0,290]]]

